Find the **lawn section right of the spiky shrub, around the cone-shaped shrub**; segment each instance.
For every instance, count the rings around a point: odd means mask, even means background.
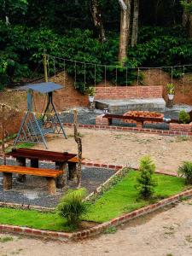
[[[129,172],[112,189],[104,192],[94,205],[90,205],[89,213],[84,219],[102,223],[122,213],[134,211],[154,201],[175,195],[185,188],[184,179],[181,177],[155,174],[158,185],[154,189],[154,200],[138,200],[138,192],[135,188],[138,174],[134,171]]]

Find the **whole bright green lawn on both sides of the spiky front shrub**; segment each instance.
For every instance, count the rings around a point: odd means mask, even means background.
[[[131,212],[152,203],[152,201],[137,200],[137,189],[135,188],[137,175],[138,172],[129,172],[112,189],[105,192],[95,204],[90,205],[89,212],[84,219],[102,223],[118,217],[123,212]],[[183,178],[159,174],[156,174],[155,177],[158,183],[155,197],[165,198],[185,189]],[[66,221],[55,213],[3,207],[0,208],[0,224],[14,224],[42,230],[72,230],[71,227],[67,226]]]

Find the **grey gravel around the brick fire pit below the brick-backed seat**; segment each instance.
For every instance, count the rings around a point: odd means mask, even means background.
[[[181,109],[185,109],[187,112],[192,110],[191,106],[188,105],[175,105],[173,108],[166,108],[165,117],[168,119],[178,119],[178,113]],[[82,125],[96,125],[96,116],[102,114],[102,110],[95,109],[94,111],[89,110],[88,108],[78,108],[78,119],[79,124]],[[64,123],[73,123],[73,111],[70,113],[61,114],[61,121]],[[114,119],[113,124],[115,126],[136,126],[134,124],[125,124],[124,122]],[[161,130],[168,130],[168,125],[166,124],[154,124],[154,125],[144,125],[145,128],[154,128]]]

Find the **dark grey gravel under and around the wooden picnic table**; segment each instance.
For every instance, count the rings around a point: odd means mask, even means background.
[[[8,165],[15,165],[15,161],[8,160]],[[29,164],[29,163],[28,163]],[[54,168],[53,164],[41,164],[42,168]],[[105,182],[108,177],[113,175],[114,171],[103,168],[88,168],[82,169],[82,186],[89,193],[94,191],[100,184]],[[14,202],[19,204],[40,206],[40,207],[55,207],[64,193],[64,189],[57,189],[55,195],[47,193],[47,183],[44,177],[27,176],[26,183],[17,182],[16,176],[13,177],[13,189],[3,191],[2,186],[3,175],[0,174],[0,201]],[[67,182],[69,189],[75,188],[76,183]]]

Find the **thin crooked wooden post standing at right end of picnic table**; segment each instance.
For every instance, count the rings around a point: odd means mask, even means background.
[[[78,112],[77,109],[74,109],[73,111],[73,115],[74,115],[74,139],[75,142],[78,144],[78,158],[79,158],[79,162],[78,162],[78,166],[77,166],[77,173],[78,173],[78,187],[81,187],[81,175],[82,175],[82,142],[81,142],[81,138],[78,135]]]

